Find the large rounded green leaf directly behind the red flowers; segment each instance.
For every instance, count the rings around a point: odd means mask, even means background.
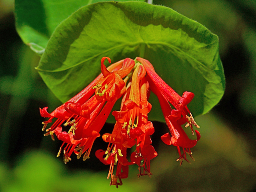
[[[100,2],[84,6],[62,22],[37,67],[44,82],[65,102],[112,63],[137,56],[149,60],[178,94],[195,94],[194,116],[208,112],[224,94],[218,37],[174,10],[144,2]],[[151,120],[164,121],[155,96]]]

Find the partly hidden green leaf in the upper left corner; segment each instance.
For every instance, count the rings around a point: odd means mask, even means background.
[[[25,44],[41,55],[58,24],[82,6],[101,1],[108,0],[15,0],[17,32]]]

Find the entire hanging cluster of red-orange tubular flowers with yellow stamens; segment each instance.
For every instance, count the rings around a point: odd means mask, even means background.
[[[143,58],[126,58],[108,68],[104,65],[106,59],[111,62],[108,57],[102,58],[102,73],[68,102],[50,114],[47,107],[40,108],[41,116],[50,118],[42,122],[43,131],[53,118],[57,118],[44,134],[50,135],[52,140],[55,134],[58,140],[63,141],[57,157],[63,150],[65,164],[71,160],[72,153],[77,155],[77,159],[82,156],[83,160],[88,159],[92,145],[96,138],[100,137],[100,130],[116,100],[122,97],[120,111],[112,112],[116,119],[112,133],[102,135],[102,139],[109,143],[108,147],[106,150],[97,150],[95,155],[102,163],[110,165],[110,185],[117,188],[122,185],[121,179],[128,177],[128,166],[131,164],[138,165],[138,177],[150,177],[150,160],[157,156],[150,138],[154,133],[154,126],[148,121],[148,113],[152,108],[148,102],[151,90],[159,99],[170,130],[170,133],[161,137],[162,141],[167,145],[177,146],[180,155],[177,161],[180,161],[180,166],[183,160],[189,162],[186,153],[194,160],[190,148],[196,145],[200,134],[195,130],[197,139],[191,140],[181,126],[187,123],[185,127],[190,126],[192,134],[193,125],[199,128],[187,107],[194,94],[184,92],[182,96],[178,95],[156,74],[152,64]],[[172,109],[170,104],[175,109]],[[63,126],[68,127],[69,131],[63,131]],[[133,146],[136,146],[136,150],[128,158],[127,148]]]

